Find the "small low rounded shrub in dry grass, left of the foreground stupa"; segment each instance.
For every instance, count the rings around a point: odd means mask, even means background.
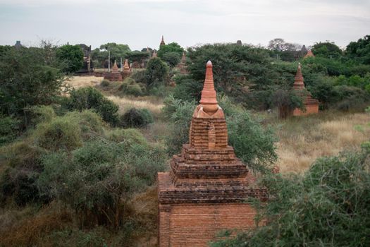
[[[153,116],[148,109],[131,108],[121,116],[121,126],[124,128],[145,127],[149,123],[153,123]]]

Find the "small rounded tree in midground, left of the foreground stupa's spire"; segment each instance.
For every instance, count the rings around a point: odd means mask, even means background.
[[[154,83],[165,83],[168,77],[168,66],[159,57],[150,59],[145,72],[147,85],[152,86]]]

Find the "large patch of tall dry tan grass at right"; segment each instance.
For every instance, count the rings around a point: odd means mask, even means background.
[[[278,162],[281,172],[302,172],[315,159],[359,149],[369,140],[370,115],[323,112],[277,121]]]

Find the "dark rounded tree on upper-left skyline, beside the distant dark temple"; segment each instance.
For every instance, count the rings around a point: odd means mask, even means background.
[[[56,50],[56,58],[64,64],[63,71],[73,73],[83,66],[83,52],[78,44],[65,44]]]

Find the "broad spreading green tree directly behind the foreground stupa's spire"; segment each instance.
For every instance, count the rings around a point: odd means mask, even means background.
[[[188,66],[192,78],[204,81],[206,61],[211,60],[217,91],[242,97],[251,90],[264,90],[273,83],[273,65],[269,51],[235,44],[206,44],[189,49]]]

